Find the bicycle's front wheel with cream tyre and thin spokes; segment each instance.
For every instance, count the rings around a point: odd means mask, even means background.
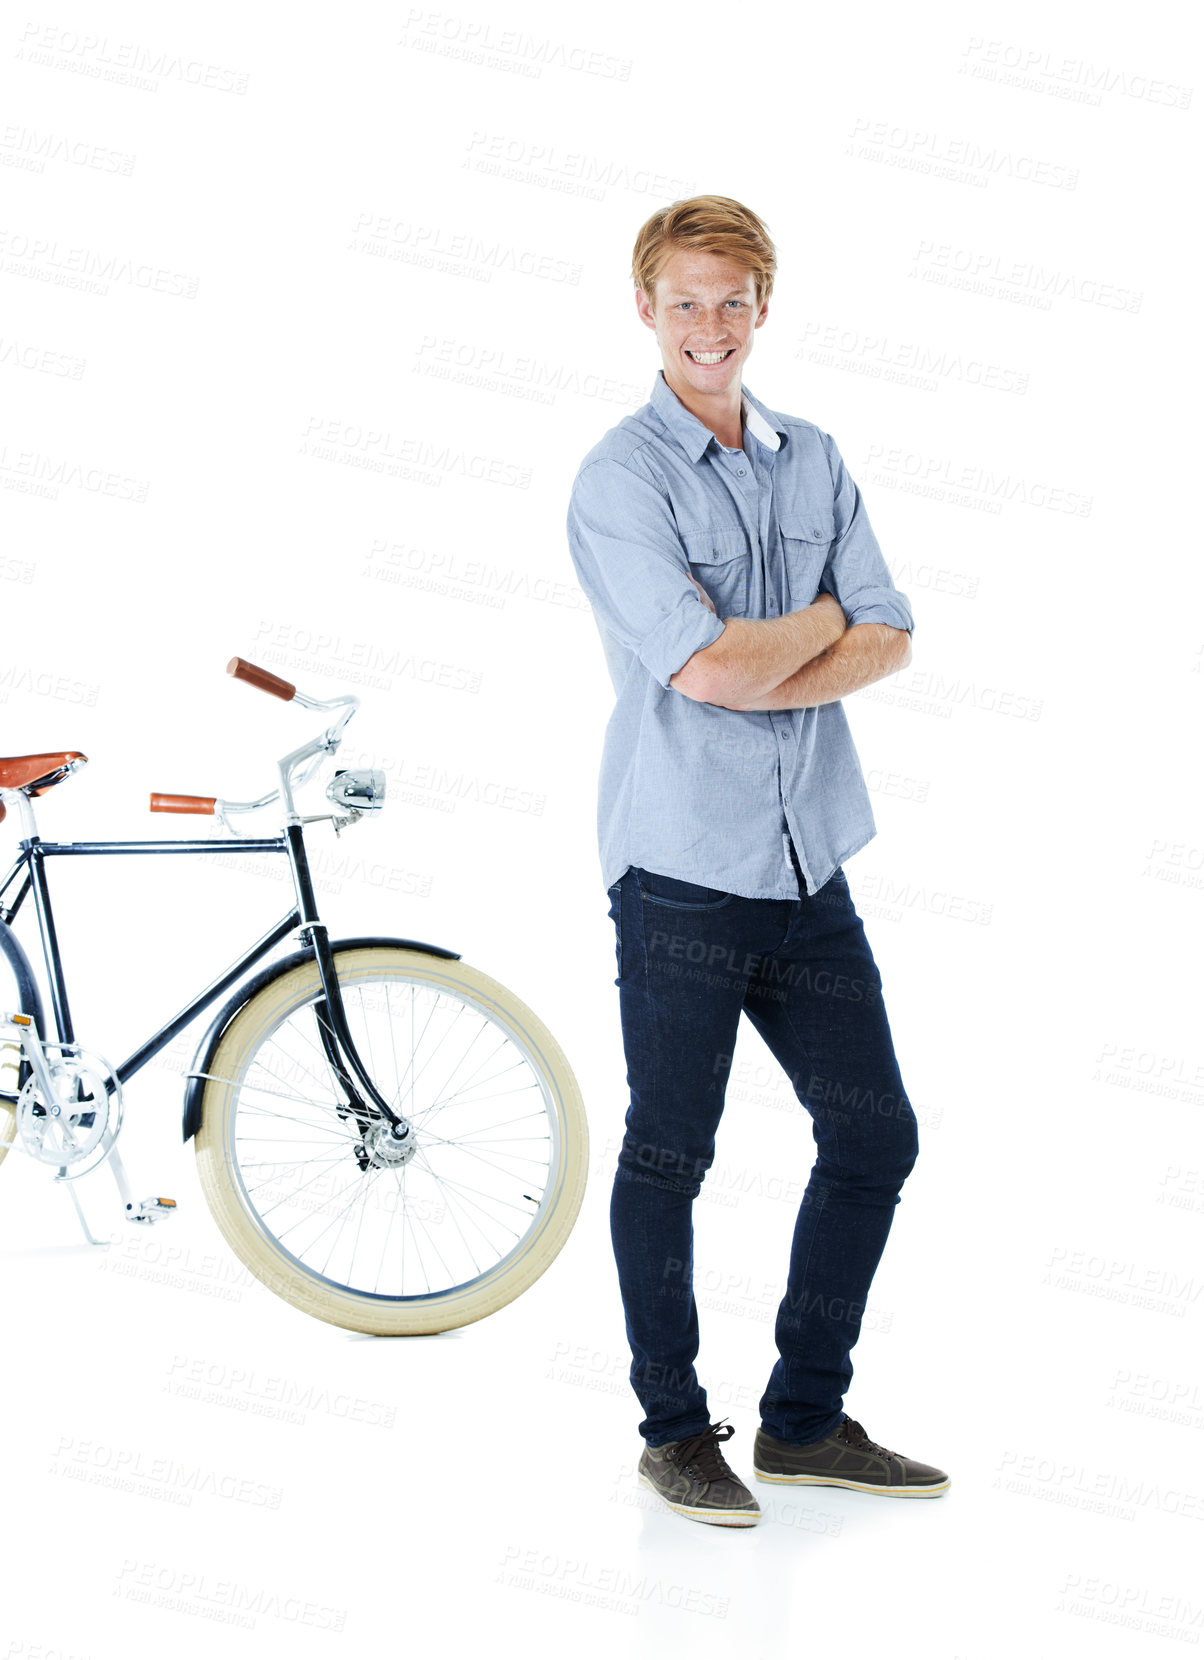
[[[349,1109],[317,1026],[317,964],[257,991],[209,1062],[196,1155],[234,1253],[287,1303],[380,1336],[493,1313],[581,1208],[588,1132],[570,1066],[513,993],[400,945],[335,946],[352,1039],[412,1125]]]

